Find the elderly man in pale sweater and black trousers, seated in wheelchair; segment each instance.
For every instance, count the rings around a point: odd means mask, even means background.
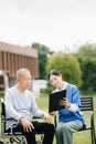
[[[6,93],[7,117],[13,117],[20,122],[14,131],[21,131],[28,144],[36,144],[35,132],[44,133],[43,144],[52,144],[55,128],[51,115],[38,107],[33,93],[29,91],[31,80],[28,69],[17,71],[17,85]],[[31,115],[44,117],[44,122],[32,122]],[[7,130],[9,131],[14,123],[15,121],[7,122]]]

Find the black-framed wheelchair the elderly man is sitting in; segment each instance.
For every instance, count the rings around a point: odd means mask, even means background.
[[[11,119],[6,119],[6,106],[3,99],[0,99],[1,103],[1,140],[0,144],[28,144],[25,136],[22,135],[21,132],[13,132],[13,127],[18,125],[18,122],[15,125],[11,126],[10,132],[6,131],[6,122],[10,121]],[[36,144],[43,144],[43,133],[35,133],[35,136],[40,138],[36,140]]]

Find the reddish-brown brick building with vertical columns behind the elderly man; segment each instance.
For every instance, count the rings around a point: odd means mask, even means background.
[[[32,48],[22,48],[0,42],[0,78],[8,76],[9,88],[15,82],[15,72],[20,68],[31,71],[32,78],[39,76],[38,51]],[[2,80],[0,79],[2,82]]]

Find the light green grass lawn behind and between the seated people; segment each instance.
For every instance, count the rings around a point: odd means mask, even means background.
[[[49,107],[49,97],[46,94],[41,94],[40,97],[36,97],[36,103],[39,105],[39,107],[41,107],[43,111],[47,111]],[[94,95],[94,112],[95,112],[95,120],[96,120],[96,95]],[[85,120],[86,123],[89,123],[89,114],[85,113]],[[95,121],[96,123],[96,121]],[[95,124],[96,127],[96,124]],[[1,126],[0,126],[1,130]],[[90,131],[85,131],[85,132],[77,132],[74,133],[73,136],[74,140],[74,144],[90,144]],[[54,144],[55,144],[55,137],[54,137]]]

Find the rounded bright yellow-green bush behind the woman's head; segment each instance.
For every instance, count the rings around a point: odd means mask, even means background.
[[[51,55],[46,64],[46,72],[51,69],[58,70],[65,81],[76,84],[78,88],[82,85],[79,63],[72,54],[57,52]]]

